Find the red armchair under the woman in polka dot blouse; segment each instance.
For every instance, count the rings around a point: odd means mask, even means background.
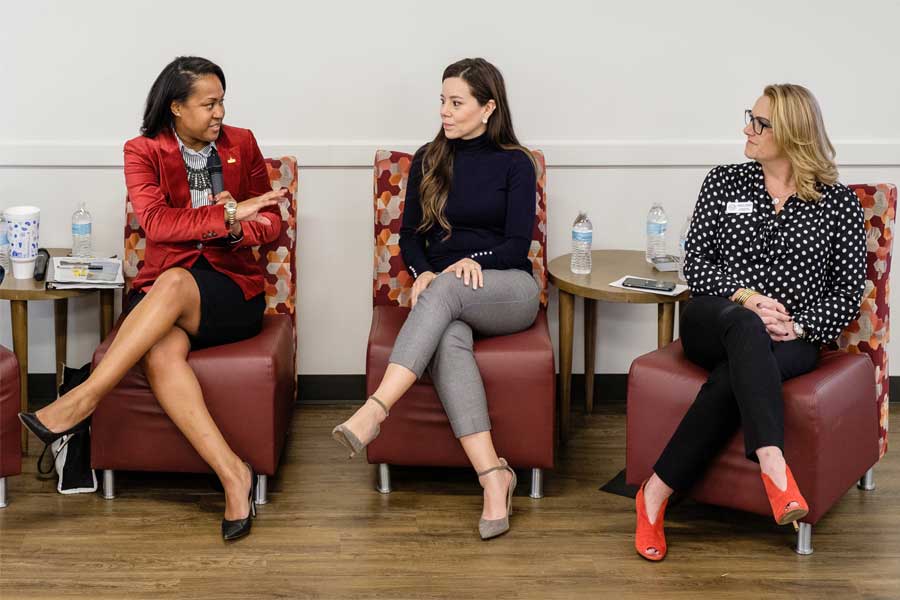
[[[871,467],[887,449],[888,274],[897,188],[851,186],[863,205],[867,282],[859,318],[823,352],[811,373],[783,388],[785,458],[809,502],[796,551],[812,553],[812,526],[852,487],[874,489]],[[627,481],[647,479],[663,447],[694,401],[707,372],[690,362],[680,341],[645,354],[628,376]],[[700,501],[771,515],[759,468],[744,455],[739,431],[689,495]]]

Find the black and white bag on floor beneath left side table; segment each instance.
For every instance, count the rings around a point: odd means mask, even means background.
[[[86,364],[80,369],[63,367],[63,383],[59,386],[59,395],[62,396],[75,386],[84,382],[91,374],[91,365]],[[43,466],[47,448],[53,455],[53,464]],[[38,471],[49,474],[56,470],[59,482],[56,490],[60,494],[82,494],[97,491],[97,474],[91,468],[91,434],[90,428],[86,431],[64,435],[49,446],[44,446],[41,457],[38,459]]]

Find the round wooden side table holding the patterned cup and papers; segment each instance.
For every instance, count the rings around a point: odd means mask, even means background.
[[[47,248],[50,256],[67,256],[68,248]],[[48,290],[43,281],[14,279],[12,269],[0,284],[0,300],[9,300],[12,317],[13,352],[19,361],[19,393],[22,411],[28,410],[28,303],[53,300],[53,328],[56,332],[56,384],[61,383],[66,362],[66,332],[69,298],[100,292],[100,340],[112,330],[115,290]],[[22,451],[28,452],[28,432],[22,428]]]

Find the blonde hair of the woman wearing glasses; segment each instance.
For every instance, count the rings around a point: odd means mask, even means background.
[[[772,102],[772,133],[791,161],[797,195],[818,200],[818,184],[838,180],[834,146],[825,133],[819,103],[808,89],[790,83],[766,86],[763,95]]]

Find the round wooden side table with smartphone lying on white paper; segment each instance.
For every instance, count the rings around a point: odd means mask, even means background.
[[[655,270],[640,250],[594,250],[591,252],[593,268],[589,275],[572,273],[569,268],[571,260],[572,255],[565,254],[550,261],[548,267],[550,282],[559,288],[559,434],[563,442],[569,436],[575,296],[584,298],[584,388],[585,409],[588,413],[594,406],[597,301],[658,305],[657,345],[662,348],[672,341],[674,335],[675,303],[687,300],[690,296],[688,291],[678,296],[664,296],[609,285],[611,281],[625,275],[679,283],[678,273]]]

